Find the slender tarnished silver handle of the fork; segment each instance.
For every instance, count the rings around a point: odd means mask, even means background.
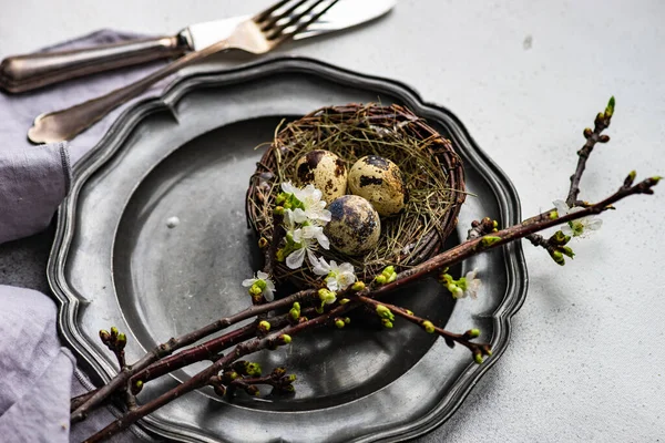
[[[228,49],[229,45],[228,40],[222,40],[201,51],[190,52],[146,78],[111,91],[98,99],[89,100],[62,111],[41,114],[34,119],[32,127],[28,131],[28,138],[35,144],[72,140],[121,104],[147,91],[150,86],[160,80],[167,78],[188,64]]]

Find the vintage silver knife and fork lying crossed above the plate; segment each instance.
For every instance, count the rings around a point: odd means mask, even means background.
[[[173,59],[146,78],[75,106],[41,114],[28,132],[35,144],[66,141],[154,83],[184,66],[227,50],[265,54],[288,40],[326,34],[377,19],[396,0],[282,0],[254,17],[190,25],[176,35],[74,51],[10,56],[0,63],[0,90],[21,93],[74,78]]]

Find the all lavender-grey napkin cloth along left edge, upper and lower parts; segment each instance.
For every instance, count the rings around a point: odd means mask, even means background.
[[[137,37],[103,30],[47,51]],[[0,93],[0,244],[35,234],[49,225],[69,190],[70,164],[85,155],[133,102],[112,112],[69,145],[31,145],[25,132],[34,116],[136,81],[162,63],[72,80],[27,94]],[[140,99],[158,94],[165,84],[153,86]],[[109,424],[113,416],[102,409],[70,431],[70,396],[85,392],[90,382],[60,344],[53,301],[33,290],[0,286],[0,441],[78,442]],[[136,439],[126,432],[112,441]]]

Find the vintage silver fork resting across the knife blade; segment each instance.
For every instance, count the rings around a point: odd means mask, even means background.
[[[62,111],[41,114],[34,119],[32,127],[28,131],[28,138],[32,143],[53,143],[72,140],[115,107],[141,95],[160,80],[216,52],[227,49],[241,49],[254,54],[269,52],[298,32],[307,29],[309,24],[318,20],[338,0],[328,0],[327,4],[319,9],[317,7],[326,0],[315,0],[303,10],[300,7],[308,1],[310,0],[278,1],[265,11],[238,24],[225,40],[211,44],[201,51],[183,55],[135,83]],[[280,8],[287,9],[276,14],[275,11]]]

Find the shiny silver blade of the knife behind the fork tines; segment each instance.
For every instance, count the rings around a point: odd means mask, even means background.
[[[323,35],[366,23],[388,13],[395,7],[395,3],[397,3],[397,0],[340,0],[335,4],[335,8],[331,8],[324,17],[311,23],[306,31],[300,32],[294,40]],[[303,7],[306,8],[307,4]],[[279,10],[275,13],[279,13]],[[192,24],[182,30],[178,38],[186,42],[191,51],[198,51],[228,37],[238,23],[249,18],[250,16],[234,17]],[[285,32],[288,32],[288,29]]]

